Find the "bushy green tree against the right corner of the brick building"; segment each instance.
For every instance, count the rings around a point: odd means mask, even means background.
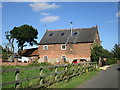
[[[102,55],[103,47],[100,44],[94,43],[91,47],[91,61],[99,61]]]

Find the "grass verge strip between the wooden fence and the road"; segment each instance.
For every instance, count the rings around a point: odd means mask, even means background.
[[[48,88],[76,88],[81,83],[90,80],[93,76],[97,74],[98,71],[92,71],[88,73],[81,74],[79,76],[73,77],[68,82],[62,81],[56,84],[51,85]]]

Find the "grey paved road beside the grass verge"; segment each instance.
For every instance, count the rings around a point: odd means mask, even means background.
[[[118,88],[118,64],[114,64],[97,73],[96,76],[84,82],[77,88]]]

